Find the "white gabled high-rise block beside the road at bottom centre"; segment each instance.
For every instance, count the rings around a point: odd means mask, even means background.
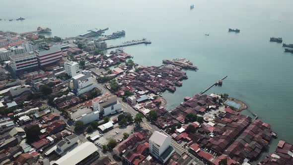
[[[162,163],[166,163],[174,153],[171,137],[161,132],[154,131],[148,142],[149,153]]]

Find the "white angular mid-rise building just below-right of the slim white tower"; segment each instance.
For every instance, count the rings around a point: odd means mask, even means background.
[[[88,92],[93,88],[97,87],[96,80],[93,79],[90,72],[83,74],[78,74],[73,78],[73,88],[74,91],[80,95],[82,93]]]

